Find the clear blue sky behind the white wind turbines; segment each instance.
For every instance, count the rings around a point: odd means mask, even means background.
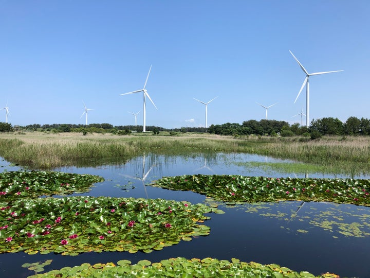
[[[0,108],[12,125],[146,125],[370,118],[370,2],[0,0]],[[5,121],[5,110],[0,110]]]

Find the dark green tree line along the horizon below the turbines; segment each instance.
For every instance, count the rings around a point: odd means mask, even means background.
[[[8,123],[0,122],[0,132],[9,132],[14,130],[39,130],[53,132],[97,132],[105,133],[112,132],[118,134],[129,134],[131,132],[142,132],[143,126],[113,126],[111,124],[52,124],[40,125],[33,124],[27,126],[14,126]],[[157,126],[147,126],[147,131],[160,132],[206,132],[205,128],[201,127],[181,127],[175,129],[167,129]],[[306,136],[315,139],[322,135],[370,135],[370,120],[367,118],[349,117],[344,123],[338,118],[324,117],[313,119],[310,126],[301,127],[300,124],[289,125],[287,121],[279,120],[246,120],[243,124],[226,123],[222,125],[211,125],[207,132],[219,135],[281,135],[281,136]]]

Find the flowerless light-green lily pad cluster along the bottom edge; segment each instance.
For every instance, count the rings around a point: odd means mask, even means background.
[[[186,259],[183,257],[161,260],[160,263],[151,263],[149,260],[140,260],[132,265],[130,260],[120,260],[117,265],[82,264],[76,267],[64,267],[60,270],[51,270],[43,274],[30,276],[38,277],[332,277],[339,278],[332,273],[315,276],[307,271],[295,272],[279,265],[262,265],[254,262],[245,263],[233,258],[218,260],[215,258]]]

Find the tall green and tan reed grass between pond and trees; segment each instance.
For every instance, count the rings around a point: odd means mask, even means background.
[[[124,162],[142,152],[181,154],[199,152],[244,152],[292,159],[317,165],[328,172],[362,174],[370,172],[370,137],[322,137],[306,141],[301,137],[248,136],[234,138],[207,133],[161,132],[132,135],[82,133],[1,133],[0,156],[7,161],[35,169],[87,166],[91,160]]]

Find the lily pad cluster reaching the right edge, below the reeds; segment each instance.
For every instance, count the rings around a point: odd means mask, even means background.
[[[192,190],[228,203],[303,200],[370,206],[370,181],[360,179],[184,175],[163,177],[151,185],[171,190]]]

